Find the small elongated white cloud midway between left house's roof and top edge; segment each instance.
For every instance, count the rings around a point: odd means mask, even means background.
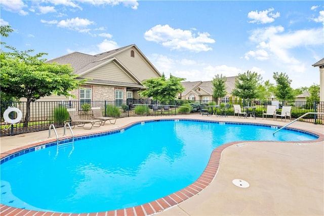
[[[72,29],[78,32],[89,32],[88,25],[94,24],[95,22],[88,19],[82,18],[71,18],[66,20],[61,20],[57,23],[58,27]]]

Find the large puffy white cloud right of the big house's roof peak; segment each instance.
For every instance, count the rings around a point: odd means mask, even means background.
[[[171,50],[189,50],[192,52],[212,50],[208,44],[215,43],[215,40],[211,39],[207,32],[198,32],[196,35],[192,30],[174,29],[169,25],[155,25],[144,33],[144,38]]]

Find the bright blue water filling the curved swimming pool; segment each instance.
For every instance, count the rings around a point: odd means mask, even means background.
[[[98,212],[181,190],[212,151],[238,140],[299,141],[308,133],[202,121],[145,122],[106,136],[15,157],[1,165],[1,203],[31,210]],[[284,144],[283,144],[284,145]]]

